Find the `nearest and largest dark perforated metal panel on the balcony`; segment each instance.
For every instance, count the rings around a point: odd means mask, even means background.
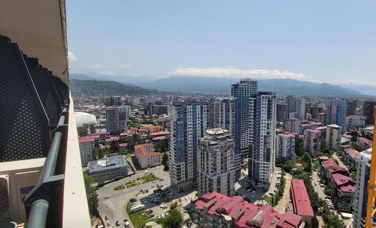
[[[17,44],[0,42],[0,162],[47,156],[49,121]]]

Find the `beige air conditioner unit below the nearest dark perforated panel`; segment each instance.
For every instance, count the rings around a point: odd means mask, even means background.
[[[0,163],[0,221],[27,221],[24,200],[38,184],[44,162],[37,158]]]

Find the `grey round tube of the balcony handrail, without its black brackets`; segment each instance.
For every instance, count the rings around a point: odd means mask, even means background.
[[[67,103],[66,103],[67,104]],[[69,105],[69,104],[68,104]],[[63,113],[66,112],[67,107],[63,108]],[[65,116],[61,114],[58,122],[58,127],[65,124]],[[59,129],[59,128],[57,128]],[[59,155],[59,149],[61,145],[61,138],[63,136],[62,130],[57,130],[52,139],[52,143],[49,149],[47,158],[45,159],[44,167],[42,170],[39,184],[44,181],[45,178],[54,176],[56,162]],[[47,199],[38,199],[30,206],[29,219],[27,220],[27,227],[32,228],[45,228],[48,216],[50,204]]]

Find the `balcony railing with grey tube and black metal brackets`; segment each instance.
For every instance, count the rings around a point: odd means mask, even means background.
[[[68,109],[70,99],[65,99],[59,122],[53,130],[53,139],[39,183],[27,194],[25,210],[27,227],[61,227],[62,194],[64,189],[64,164],[67,144]],[[59,161],[59,167],[56,164]]]

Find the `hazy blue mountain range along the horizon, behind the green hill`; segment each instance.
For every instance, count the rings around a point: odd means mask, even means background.
[[[124,86],[141,87],[146,89],[161,90],[166,92],[196,92],[196,93],[230,93],[230,85],[239,81],[237,78],[213,78],[197,76],[171,76],[153,80],[147,76],[88,76],[83,74],[70,74],[71,79],[115,80]],[[100,91],[100,90],[98,90]],[[313,83],[293,79],[259,79],[259,91],[272,91],[279,95],[312,95],[312,96],[352,96],[374,95],[376,87],[331,85],[328,83]]]

